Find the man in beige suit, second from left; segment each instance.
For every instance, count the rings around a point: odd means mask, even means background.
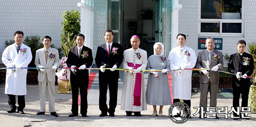
[[[52,69],[39,69],[38,82],[40,94],[40,110],[37,114],[45,114],[45,96],[46,85],[48,86],[49,98],[49,112],[51,115],[58,116],[55,112],[55,70],[60,66],[59,51],[51,48],[52,38],[45,36],[42,40],[43,48],[36,51],[35,65],[38,68],[52,68]]]

